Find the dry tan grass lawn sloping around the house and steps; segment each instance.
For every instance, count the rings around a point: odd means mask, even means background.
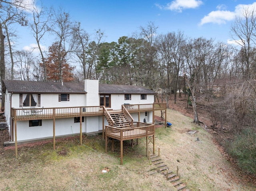
[[[173,125],[171,128],[157,128],[156,148],[160,147],[161,158],[171,170],[175,171],[179,165],[180,176],[190,190],[256,190],[229,178],[229,173],[236,172],[218,152],[205,130],[176,111],[167,112],[167,120]],[[189,130],[198,132],[188,135],[186,132]],[[108,153],[104,152],[102,136],[84,138],[84,145],[79,146],[76,139],[70,139],[58,141],[56,151],[52,149],[52,143],[21,147],[17,159],[15,150],[2,151],[0,190],[176,190],[160,173],[149,175],[148,170],[154,165],[146,158],[146,138],[140,139],[134,148],[131,148],[130,141],[124,142],[123,165],[120,165],[118,142],[114,153],[110,144]],[[110,171],[102,173],[102,169]]]

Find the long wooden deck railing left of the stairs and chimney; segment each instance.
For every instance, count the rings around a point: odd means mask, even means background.
[[[62,107],[62,108],[12,108],[11,115],[14,120],[33,120],[33,119],[51,119],[68,118],[78,116],[103,115],[103,106],[80,106],[80,107]]]

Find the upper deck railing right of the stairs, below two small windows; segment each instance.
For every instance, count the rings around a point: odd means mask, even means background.
[[[154,110],[166,110],[166,103],[153,103],[153,104],[124,104],[128,112],[143,112],[143,111],[154,111]]]

